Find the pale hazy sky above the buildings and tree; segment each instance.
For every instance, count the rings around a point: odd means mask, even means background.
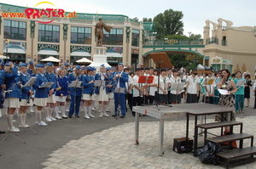
[[[32,8],[42,0],[1,0],[0,2]],[[256,25],[255,0],[51,0],[49,2],[54,3],[56,8],[68,12],[124,14],[131,19],[137,17],[139,20],[154,19],[157,14],[172,8],[183,12],[183,34],[186,36],[189,36],[189,32],[203,36],[206,20],[218,23],[218,18],[232,21],[233,26]],[[37,8],[49,7],[48,4],[47,6],[41,4]]]

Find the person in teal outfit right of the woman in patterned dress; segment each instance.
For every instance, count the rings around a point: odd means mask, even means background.
[[[240,81],[243,81],[242,83]],[[235,93],[235,105],[236,105],[236,112],[241,111],[244,113],[244,82],[245,79],[241,77],[241,71],[236,72],[236,79],[234,80],[236,83],[237,92]]]

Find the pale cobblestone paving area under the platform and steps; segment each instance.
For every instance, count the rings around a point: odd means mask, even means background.
[[[146,117],[147,118],[147,117]],[[213,118],[213,116],[212,116]],[[238,117],[236,121],[243,122],[243,132],[256,135],[254,121],[256,116]],[[207,120],[208,122],[212,119]],[[194,121],[189,121],[193,126]],[[193,138],[193,128],[189,129],[189,137]],[[239,127],[234,127],[239,132]],[[219,134],[219,129],[212,129]],[[42,163],[47,169],[65,168],[171,168],[171,169],[205,169],[223,168],[221,166],[205,165],[192,154],[177,154],[172,151],[173,138],[185,136],[184,121],[165,121],[164,155],[158,156],[159,122],[140,122],[139,145],[135,145],[134,122],[111,127],[102,132],[95,132],[82,138],[72,140],[52,152]],[[203,137],[199,137],[202,145]],[[254,139],[255,142],[255,139]],[[255,144],[255,143],[254,143]],[[244,140],[244,147],[250,145]],[[250,163],[235,168],[256,168],[256,163]]]

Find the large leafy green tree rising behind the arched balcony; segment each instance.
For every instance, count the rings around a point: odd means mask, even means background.
[[[172,8],[154,17],[156,38],[161,39],[166,35],[183,35],[183,12],[174,11]]]

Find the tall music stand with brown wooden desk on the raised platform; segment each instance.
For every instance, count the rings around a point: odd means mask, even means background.
[[[162,68],[171,68],[172,63],[170,59],[168,59],[168,56],[166,53],[151,53],[150,57],[154,60],[154,64],[158,65],[158,72],[160,73],[160,67]],[[160,84],[160,75],[158,76],[158,85],[157,85],[157,100],[156,100],[156,106],[157,109],[160,110],[159,107],[159,84]],[[166,104],[163,104],[166,105]],[[172,105],[168,105],[172,107]]]

